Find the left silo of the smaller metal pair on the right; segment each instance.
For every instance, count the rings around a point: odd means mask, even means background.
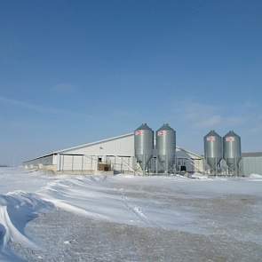
[[[218,171],[218,164],[223,157],[222,138],[216,131],[210,131],[203,138],[204,157],[210,171]]]

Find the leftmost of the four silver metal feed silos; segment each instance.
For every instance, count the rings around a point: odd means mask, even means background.
[[[145,173],[154,150],[154,131],[147,123],[143,123],[134,131],[134,147],[135,157]]]

